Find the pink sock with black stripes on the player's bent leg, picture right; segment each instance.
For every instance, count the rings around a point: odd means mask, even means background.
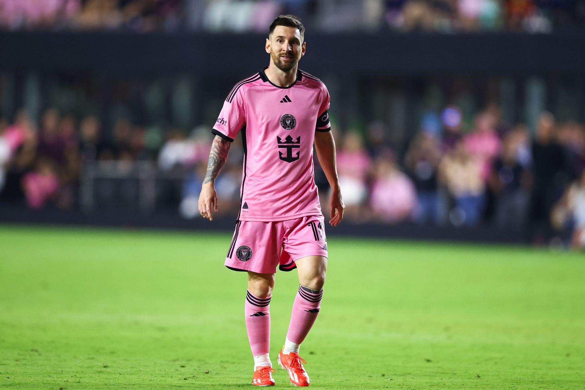
[[[298,289],[297,296],[292,305],[291,323],[288,326],[287,339],[293,343],[301,344],[321,309],[323,289],[315,291],[305,286]]]

